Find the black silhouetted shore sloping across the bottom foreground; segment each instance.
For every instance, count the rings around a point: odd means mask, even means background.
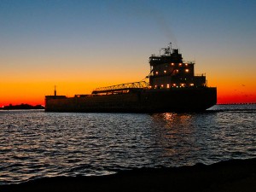
[[[0,191],[256,191],[256,159],[211,166],[136,169],[100,177],[50,177],[0,185]]]

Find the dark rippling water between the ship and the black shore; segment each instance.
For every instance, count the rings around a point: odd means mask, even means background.
[[[204,113],[0,111],[0,184],[256,155],[256,105]]]

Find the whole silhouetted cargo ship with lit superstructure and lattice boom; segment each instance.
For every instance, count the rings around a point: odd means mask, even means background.
[[[45,96],[46,112],[166,113],[201,112],[217,103],[217,88],[205,74],[195,75],[195,62],[183,61],[172,44],[149,57],[147,81],[97,88],[89,95]]]

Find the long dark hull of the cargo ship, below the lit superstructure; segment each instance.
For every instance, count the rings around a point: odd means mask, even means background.
[[[217,89],[133,90],[125,94],[46,96],[46,112],[165,113],[200,112],[217,102]]]

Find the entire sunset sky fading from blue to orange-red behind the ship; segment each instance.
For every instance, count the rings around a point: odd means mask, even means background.
[[[169,42],[218,103],[256,102],[255,0],[0,0],[0,106],[140,81]]]

